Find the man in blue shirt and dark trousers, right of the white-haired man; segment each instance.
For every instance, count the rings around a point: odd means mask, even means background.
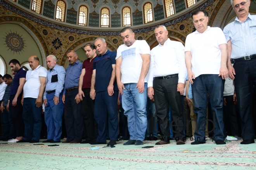
[[[78,61],[76,51],[67,52],[69,66],[66,68],[66,78],[62,101],[67,129],[67,140],[62,143],[80,143],[83,135],[82,102],[78,95],[79,77],[83,63]]]

